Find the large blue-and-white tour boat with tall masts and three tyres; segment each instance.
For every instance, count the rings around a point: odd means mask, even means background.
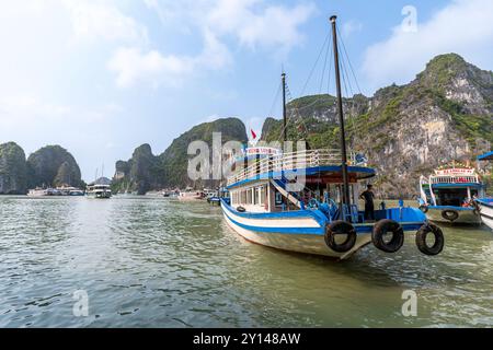
[[[382,252],[397,253],[404,244],[404,232],[411,231],[417,232],[416,244],[423,254],[438,255],[444,248],[442,230],[419,209],[377,210],[374,221],[358,209],[359,186],[376,172],[357,161],[364,158],[347,156],[335,21],[332,16],[341,149],[244,150],[228,178],[230,202],[221,199],[225,220],[250,242],[296,253],[346,259],[370,243]],[[283,73],[286,142],[285,79]],[[431,234],[435,236],[432,246],[426,240]]]

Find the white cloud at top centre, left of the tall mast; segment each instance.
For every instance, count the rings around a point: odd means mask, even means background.
[[[185,0],[180,5],[175,1],[144,2],[163,25],[174,23],[184,31],[195,27],[203,38],[203,49],[196,56],[119,49],[108,67],[117,73],[121,88],[129,88],[137,81],[151,81],[154,85],[162,81],[176,83],[199,69],[225,69],[233,61],[226,45],[228,38],[250,49],[261,47],[285,55],[301,43],[299,26],[314,10],[312,3],[287,8],[266,5],[263,0]]]

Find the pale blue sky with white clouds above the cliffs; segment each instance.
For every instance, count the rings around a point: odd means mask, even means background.
[[[367,95],[438,54],[493,70],[490,0],[0,0],[0,142],[61,144],[92,179],[202,121],[259,132],[282,67],[303,92],[334,13]],[[328,91],[322,71],[306,94]]]

